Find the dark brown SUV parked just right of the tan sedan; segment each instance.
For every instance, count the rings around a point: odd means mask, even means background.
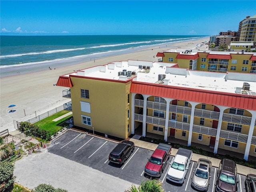
[[[220,161],[216,180],[216,192],[237,192],[236,163],[230,159]]]

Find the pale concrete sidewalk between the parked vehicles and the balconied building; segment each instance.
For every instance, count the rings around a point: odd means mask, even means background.
[[[144,141],[133,139],[133,138],[131,138],[130,141],[134,142],[135,146],[137,146],[137,147],[144,148],[144,149],[149,149],[149,150],[153,150],[153,151],[158,146],[157,144],[154,144],[154,143],[144,142]],[[172,148],[171,155],[175,156],[177,151],[178,151],[178,149]],[[193,153],[192,161],[197,162],[198,159],[200,159],[200,158],[208,159],[208,160],[210,160],[212,162],[212,166],[219,167],[220,159],[216,159],[216,158],[207,157],[207,156],[203,156],[203,155],[199,155],[199,154]],[[250,168],[250,167],[246,167],[246,166],[242,166],[242,165],[238,165],[237,164],[237,172],[239,174],[242,174],[242,175],[246,176],[249,173],[250,174],[256,174],[256,169],[253,169],[253,168]]]

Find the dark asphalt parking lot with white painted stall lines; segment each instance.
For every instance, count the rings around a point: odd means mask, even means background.
[[[48,148],[48,152],[134,184],[140,184],[142,181],[147,180],[148,177],[144,174],[144,166],[148,162],[148,157],[151,156],[153,151],[135,147],[134,152],[130,155],[126,163],[118,165],[108,161],[108,155],[116,145],[116,142],[110,140],[68,130],[53,140],[52,145]],[[167,192],[196,191],[190,185],[196,162],[191,162],[182,186],[166,180],[167,170],[170,166],[169,162],[172,158],[173,156],[168,160],[168,164],[160,177],[164,190]],[[215,189],[214,184],[216,182],[217,172],[218,168],[212,167],[212,177],[210,178],[208,192],[213,192]],[[244,192],[245,176],[238,174],[238,181],[238,192]]]

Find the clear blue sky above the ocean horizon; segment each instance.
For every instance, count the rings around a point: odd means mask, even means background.
[[[1,0],[0,34],[217,35],[255,14],[255,0]]]

